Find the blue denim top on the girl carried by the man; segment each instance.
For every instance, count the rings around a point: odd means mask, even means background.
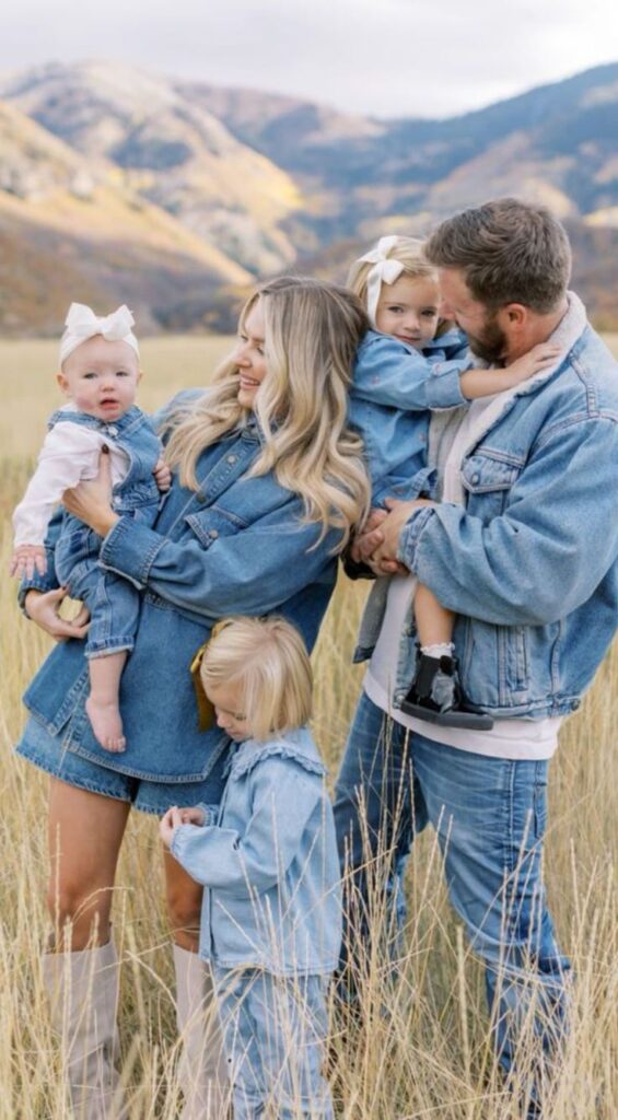
[[[353,372],[348,420],[363,437],[374,506],[386,497],[433,494],[428,469],[430,410],[467,404],[460,374],[470,367],[466,336],[449,330],[422,352],[368,330]]]

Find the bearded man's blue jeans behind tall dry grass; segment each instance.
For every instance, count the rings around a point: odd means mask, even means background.
[[[546,762],[490,758],[406,731],[363,693],[335,790],[341,865],[354,872],[346,897],[355,939],[369,933],[375,876],[367,859],[386,880],[382,897],[401,930],[405,859],[414,833],[428,823],[436,829],[451,903],[486,965],[494,1039],[506,1071],[531,1000],[539,1060],[563,1030],[570,964],[555,942],[541,869],[546,778]],[[349,949],[354,960],[353,943]]]

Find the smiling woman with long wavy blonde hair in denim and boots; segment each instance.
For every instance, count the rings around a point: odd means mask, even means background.
[[[301,278],[263,284],[241,315],[237,346],[213,386],[181,394],[163,418],[175,474],[157,529],[114,512],[105,472],[65,496],[69,512],[103,538],[103,566],[142,592],[135,648],[122,678],[125,752],[110,755],[92,732],[81,641],[58,644],[27,690],[32,718],[18,747],[53,775],[55,952],[44,970],[62,997],[56,1021],[63,1002],[69,1019],[73,1103],[88,1118],[105,1116],[116,1084],[110,909],[130,806],[162,814],[171,804],[219,799],[228,739],[216,728],[199,729],[189,673],[218,617],[277,610],[309,647],[315,642],[336,554],[368,504],[360,441],[346,428],[350,370],[366,326],[344,289]],[[55,637],[81,637],[83,617],[72,628],[57,616],[62,595],[34,578],[22,588],[26,613]],[[166,877],[182,1029],[209,993],[194,955],[200,888],[170,857]],[[200,1055],[197,1027],[185,1034],[184,1116],[216,1117],[225,1088],[217,1046]]]

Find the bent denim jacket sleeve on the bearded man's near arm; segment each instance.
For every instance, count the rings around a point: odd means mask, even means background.
[[[546,625],[575,610],[618,558],[618,424],[564,424],[537,447],[503,514],[458,505],[415,514],[399,559],[443,606],[497,625]]]

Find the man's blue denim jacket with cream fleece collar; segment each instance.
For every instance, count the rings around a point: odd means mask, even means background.
[[[457,612],[470,700],[498,717],[566,715],[618,624],[618,365],[577,296],[552,336],[558,367],[524,382],[466,451],[464,504],[421,510],[399,559]],[[444,463],[458,413],[436,414],[430,464]],[[387,580],[376,581],[356,660],[371,655]],[[410,687],[412,617],[402,619],[393,703]]]

